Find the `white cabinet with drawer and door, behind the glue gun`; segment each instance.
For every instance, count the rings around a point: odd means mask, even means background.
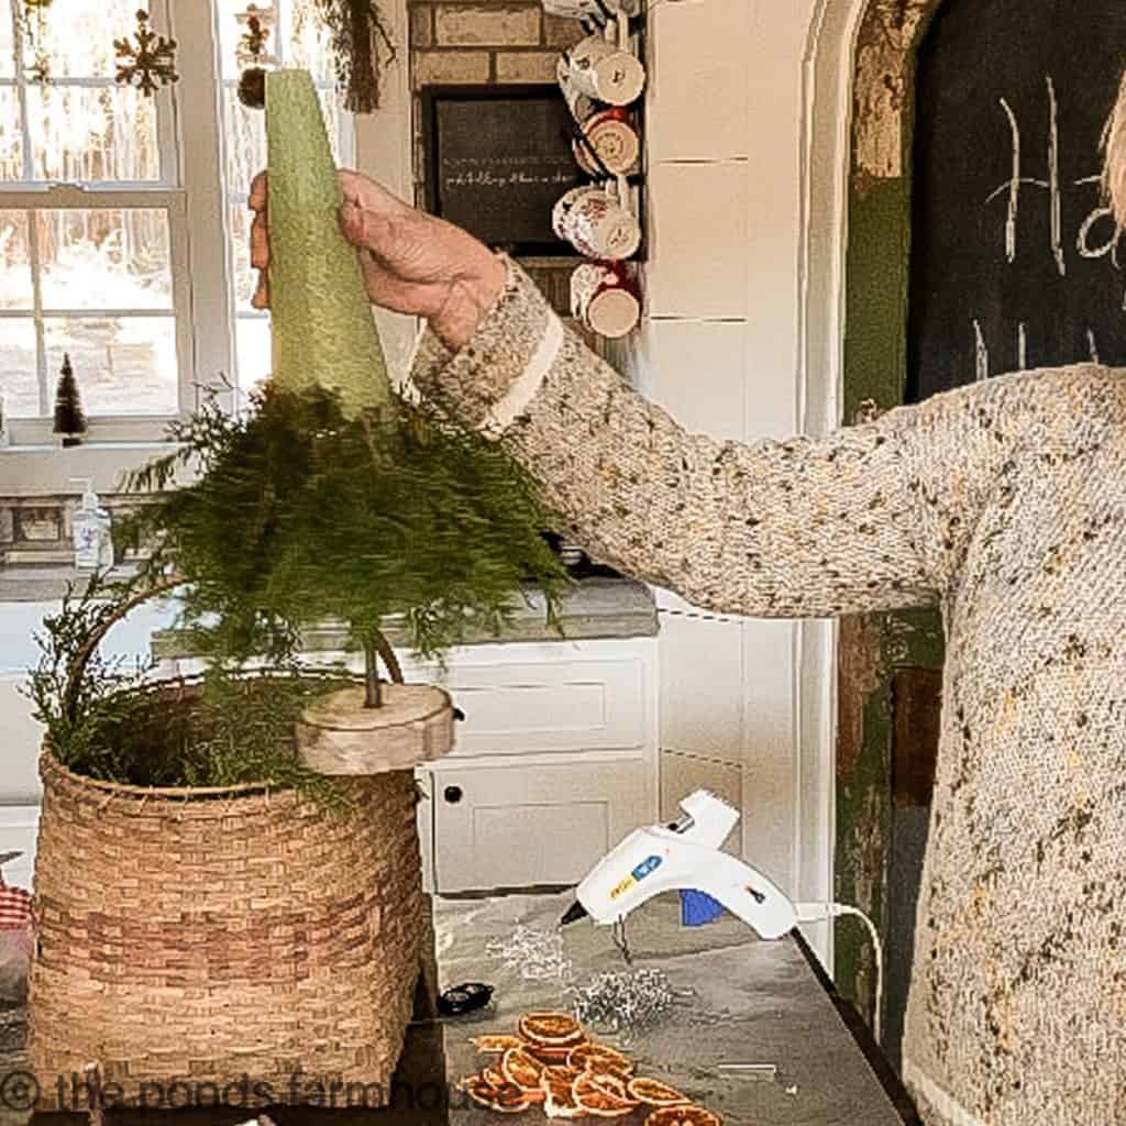
[[[658,816],[656,640],[476,645],[434,677],[464,711],[420,770],[439,894],[577,883]]]

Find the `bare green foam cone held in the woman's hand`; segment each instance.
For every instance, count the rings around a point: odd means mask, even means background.
[[[340,231],[340,182],[313,80],[266,79],[274,381],[334,392],[347,418],[392,397],[356,248]]]

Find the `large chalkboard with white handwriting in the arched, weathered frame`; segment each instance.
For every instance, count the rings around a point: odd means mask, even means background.
[[[917,72],[908,399],[1018,368],[1126,363],[1126,248],[1099,140],[1121,0],[946,0]]]

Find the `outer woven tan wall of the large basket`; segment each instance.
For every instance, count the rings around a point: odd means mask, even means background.
[[[284,1101],[297,1073],[390,1089],[425,926],[410,771],[350,779],[348,816],[294,790],[93,781],[50,747],[39,772],[44,1090],[91,1062],[129,1102],[248,1076]]]

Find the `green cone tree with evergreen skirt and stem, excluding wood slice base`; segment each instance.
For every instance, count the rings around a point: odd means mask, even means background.
[[[387,616],[432,656],[498,632],[529,583],[553,616],[569,580],[527,473],[394,392],[309,75],[267,75],[266,113],[272,376],[244,414],[211,401],[173,427],[179,449],[134,475],[154,494],[134,531],[155,544],[154,575],[184,578],[207,655],[288,659],[302,627],[337,619],[377,707]]]

